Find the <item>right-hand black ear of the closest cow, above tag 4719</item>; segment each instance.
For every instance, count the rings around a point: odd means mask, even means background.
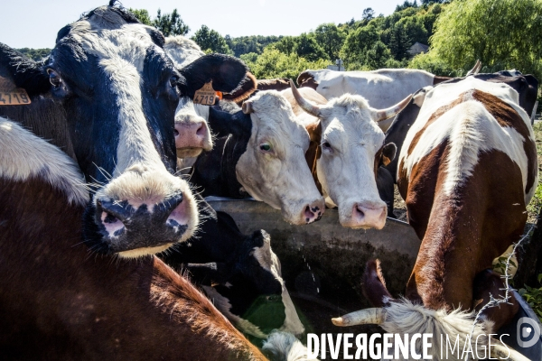
[[[193,97],[196,90],[212,80],[212,88],[224,93],[234,91],[243,83],[248,68],[241,60],[222,54],[209,54],[179,69],[186,79],[181,91]],[[256,88],[256,86],[255,86]]]

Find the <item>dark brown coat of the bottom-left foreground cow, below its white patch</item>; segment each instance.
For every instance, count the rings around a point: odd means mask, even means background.
[[[11,275],[0,280],[0,301],[13,336],[10,347],[19,356],[88,358],[93,350],[95,356],[126,359],[151,352],[166,359],[265,359],[201,292],[156,257],[115,264],[95,257],[80,243],[83,207],[68,204],[51,185],[0,179],[0,203],[11,205],[0,208],[0,255],[10,259],[0,271]],[[29,213],[31,223],[25,221]],[[22,272],[27,267],[47,272],[29,278]],[[36,319],[47,319],[47,330],[29,326]],[[126,320],[130,332],[119,332]],[[14,329],[23,329],[24,337]],[[79,337],[66,343],[58,337],[66,332]]]

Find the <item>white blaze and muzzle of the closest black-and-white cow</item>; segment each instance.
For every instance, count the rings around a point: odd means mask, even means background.
[[[107,87],[116,97],[119,125],[117,161],[111,179],[93,199],[98,213],[103,209],[102,214],[97,215],[97,222],[102,224],[106,233],[113,232],[108,235],[108,242],[114,245],[116,239],[126,233],[126,228],[130,228],[127,224],[139,223],[132,218],[135,214],[152,216],[159,208],[168,212],[162,227],[172,227],[178,237],[169,237],[166,244],[163,242],[150,247],[142,242],[136,249],[119,252],[126,257],[153,254],[174,242],[186,240],[198,224],[196,202],[189,185],[166,170],[154,146],[143,108],[143,72],[147,54],[153,51],[166,64],[170,60],[152,41],[149,33],[154,30],[150,27],[125,24],[104,29],[100,26],[101,23],[79,22],[70,32],[70,37],[79,42],[83,51],[98,60],[98,68],[107,79]],[[75,28],[82,31],[75,31]],[[173,64],[169,64],[174,73]],[[176,88],[172,88],[173,97],[178,97]],[[112,210],[118,205],[127,209],[123,214],[127,220]]]

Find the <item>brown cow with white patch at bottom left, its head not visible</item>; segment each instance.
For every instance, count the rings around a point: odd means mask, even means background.
[[[3,359],[266,360],[154,255],[134,262],[84,245],[82,177],[58,147],[0,117]],[[287,334],[267,342],[306,355]]]

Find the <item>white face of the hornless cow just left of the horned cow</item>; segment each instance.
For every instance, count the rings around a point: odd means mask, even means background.
[[[269,90],[245,102],[243,109],[250,114],[252,134],[236,165],[239,183],[254,199],[281,209],[293,224],[319,219],[324,203],[304,158],[309,134],[292,106]]]

